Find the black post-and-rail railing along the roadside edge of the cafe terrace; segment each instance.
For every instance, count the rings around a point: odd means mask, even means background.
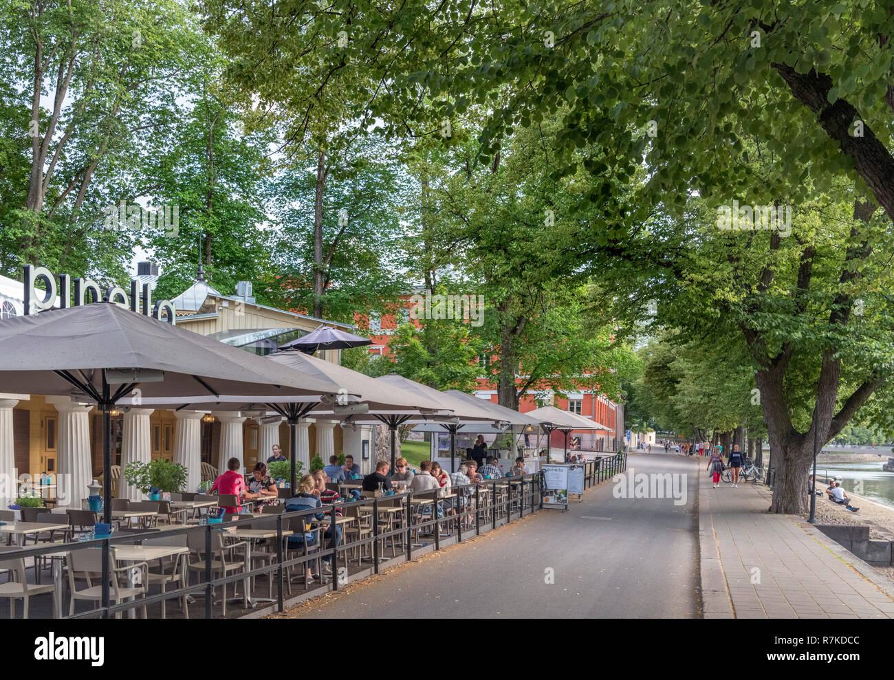
[[[627,453],[621,451],[611,457],[588,461],[584,465],[584,486],[585,489],[588,489],[626,470]],[[257,568],[251,568],[250,564],[243,564],[244,569],[238,573],[214,577],[211,559],[206,558],[204,559],[205,569],[200,573],[198,583],[189,583],[190,573],[188,570],[187,585],[185,587],[151,595],[148,594],[125,602],[116,602],[114,604],[100,603],[96,609],[75,613],[72,618],[114,617],[122,612],[130,612],[131,609],[142,609],[154,604],[160,604],[162,600],[171,600],[173,603],[176,603],[185,595],[204,597],[204,617],[212,618],[215,613],[214,592],[216,589],[222,589],[221,597],[225,598],[226,589],[223,588],[225,584],[245,583],[248,579],[266,576],[274,579],[275,600],[271,607],[254,609],[253,613],[257,616],[257,614],[283,611],[287,605],[297,604],[300,600],[307,600],[330,590],[338,590],[342,582],[345,581],[344,575],[347,573],[347,569],[342,571],[342,567],[348,566],[346,560],[348,559],[349,551],[358,550],[358,554],[362,557],[364,547],[369,546],[369,551],[372,553],[369,573],[378,574],[383,562],[385,541],[400,541],[401,552],[406,560],[409,561],[414,555],[419,556],[430,550],[441,550],[446,545],[468,540],[543,509],[543,491],[543,475],[541,473],[526,474],[523,476],[485,480],[484,482],[461,487],[452,487],[451,494],[454,495],[446,499],[435,499],[437,490],[417,493],[406,492],[392,496],[380,496],[353,502],[342,502],[335,505],[324,505],[322,508],[310,508],[271,514],[269,516],[253,516],[244,519],[234,518],[232,521],[223,524],[195,525],[167,530],[162,525],[157,529],[137,530],[137,533],[127,533],[126,535],[122,533],[121,536],[113,536],[108,539],[39,543],[36,546],[16,550],[14,557],[38,558],[52,553],[67,553],[73,550],[102,549],[106,545],[109,549],[112,549],[114,546],[131,545],[147,539],[171,538],[190,533],[193,535],[203,533],[205,538],[204,555],[213,556],[215,554],[213,532],[217,530],[222,531],[224,538],[227,535],[226,530],[231,528],[236,530],[240,527],[275,530],[276,537],[267,540],[269,544],[275,546],[275,558],[269,564]],[[420,503],[419,501],[422,502]],[[443,516],[441,517],[438,517],[438,512],[434,510],[435,502],[443,508]],[[397,527],[387,529],[385,527],[387,523],[380,517],[380,508],[394,507],[396,503],[400,503],[403,508],[401,521]],[[426,506],[432,508],[432,511],[424,512],[422,508]],[[347,516],[350,508],[364,507],[371,510],[369,517],[369,528],[371,531],[369,535],[366,538],[358,538],[354,541],[344,541],[344,534],[342,534],[342,542],[337,547],[333,547],[331,539],[323,536],[326,524],[318,524],[315,520],[315,516],[321,512],[325,513],[326,517],[331,517],[333,509],[335,509],[342,516]],[[302,525],[306,526],[307,524],[312,526],[316,524],[310,531],[305,529],[306,535],[312,533],[316,537],[314,544],[309,546],[308,549],[307,541],[305,541],[300,550],[288,549],[287,539],[289,536],[288,532],[292,531],[291,527],[293,525],[296,527],[294,533],[301,533]],[[366,532],[366,528],[364,528],[364,532]],[[420,535],[426,534],[430,538],[426,539],[425,544],[420,545],[417,541],[414,541],[414,538],[418,539]],[[362,533],[358,533],[358,536],[360,535]],[[394,545],[393,542],[392,545]],[[299,554],[291,557],[290,552],[298,552]],[[6,554],[8,555],[9,553]],[[195,553],[190,551],[187,560],[193,555]],[[3,553],[0,553],[0,556],[3,556]],[[246,561],[244,555],[240,557],[243,562]],[[109,559],[109,550],[103,550],[103,558]],[[329,576],[331,583],[321,583],[313,588],[307,587],[301,595],[287,601],[284,595],[287,572],[291,574],[292,568],[297,567],[299,575],[303,575],[311,562],[316,562],[316,560],[321,558],[332,559],[332,575]],[[240,559],[234,559],[233,561],[239,562]],[[387,566],[392,566],[391,560],[389,560]],[[352,577],[349,575],[348,580],[355,580],[356,576]],[[101,581],[101,579],[99,580]],[[245,585],[243,584],[244,588]],[[252,594],[252,599],[254,595],[255,593]],[[55,597],[55,594],[53,596]],[[236,599],[244,599],[245,597],[246,594],[243,593],[242,598]],[[264,599],[266,600],[266,598]],[[64,599],[60,598],[60,600],[64,604]],[[237,606],[233,609],[240,608]],[[63,611],[60,611],[59,614],[63,618],[69,618],[68,616],[63,616]]]

